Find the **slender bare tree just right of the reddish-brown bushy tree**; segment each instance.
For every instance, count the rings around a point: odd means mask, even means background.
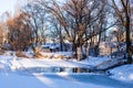
[[[30,14],[30,25],[33,31],[35,45],[45,41],[45,9],[38,2],[31,0],[23,7],[23,11]]]

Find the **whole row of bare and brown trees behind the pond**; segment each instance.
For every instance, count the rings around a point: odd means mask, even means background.
[[[42,44],[49,37],[61,45],[69,41],[80,61],[89,55],[88,47],[98,56],[100,43],[115,37],[126,42],[127,62],[132,62],[132,0],[30,0],[13,18],[7,16],[0,29],[8,30],[7,41],[12,50]]]

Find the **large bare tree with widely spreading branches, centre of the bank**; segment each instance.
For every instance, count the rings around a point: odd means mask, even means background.
[[[68,0],[63,6],[54,0],[50,2],[39,0],[38,2],[45,7],[62,25],[65,37],[72,43],[79,61],[84,58],[83,44],[114,25],[105,25],[108,19],[104,0]],[[99,22],[101,25],[98,28]]]

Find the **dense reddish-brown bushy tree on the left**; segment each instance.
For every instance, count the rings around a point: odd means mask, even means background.
[[[7,21],[7,26],[11,50],[23,51],[31,44],[32,31],[29,25],[29,14],[23,12],[17,13],[12,19]]]

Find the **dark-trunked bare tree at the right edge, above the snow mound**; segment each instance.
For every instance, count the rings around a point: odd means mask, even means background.
[[[131,19],[133,14],[131,13],[131,0],[112,0],[112,7],[115,11],[116,18],[119,19],[121,25],[125,29],[125,38],[126,38],[126,58],[127,63],[132,63],[131,57]]]

